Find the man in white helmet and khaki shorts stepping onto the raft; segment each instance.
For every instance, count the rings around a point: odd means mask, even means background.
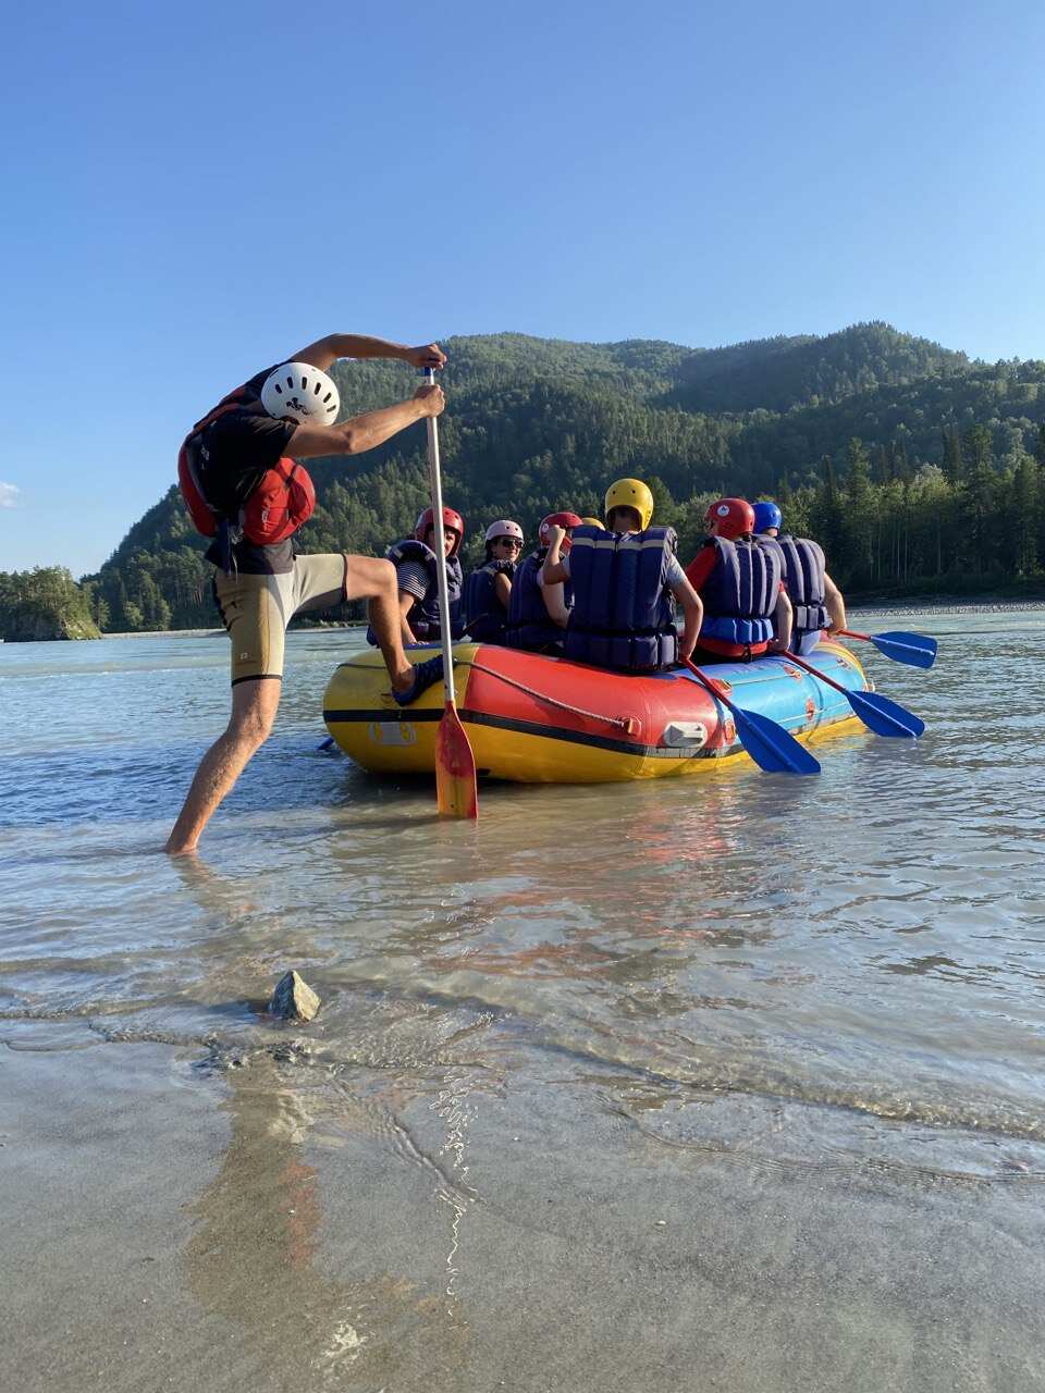
[[[326,369],[339,358],[398,358],[422,369],[446,362],[438,344],[410,348],[330,334],[224,397],[181,449],[183,495],[196,528],[215,538],[206,557],[217,567],[215,599],[231,638],[233,712],[192,779],[167,840],[171,855],[195,850],[212,814],[268,740],[280,701],[284,634],[298,612],[368,600],[392,694],[403,705],[442,677],[439,659],[417,667],[407,660],[390,561],[347,553],[294,556],[291,534],[315,497],[295,461],[373,450],[444,405],[442,387],[425,384],[407,401],[332,423],[339,398]]]

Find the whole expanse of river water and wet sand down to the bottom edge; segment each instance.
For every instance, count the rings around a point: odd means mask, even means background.
[[[0,1176],[11,1261],[52,1254],[10,1378],[1039,1386],[1045,612],[860,621],[940,638],[931,673],[860,649],[917,744],[489,786],[475,826],[318,752],[358,635],[293,634],[176,861],[224,637],[3,645]],[[308,1027],[263,1013],[287,967]]]

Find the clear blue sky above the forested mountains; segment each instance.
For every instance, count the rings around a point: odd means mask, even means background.
[[[13,14],[0,570],[95,570],[332,330],[1045,357],[1039,0]]]

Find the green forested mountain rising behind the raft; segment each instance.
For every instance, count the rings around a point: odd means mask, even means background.
[[[732,492],[783,496],[854,591],[984,588],[1045,560],[1044,362],[970,362],[882,323],[713,350],[524,334],[443,345],[444,493],[468,522],[465,559],[492,518],[532,536],[543,513],[598,513],[606,485],[634,474],[653,482],[686,559],[709,496]],[[334,376],[343,415],[417,384],[401,364],[339,364]],[[231,386],[216,383],[215,400]],[[189,404],[187,425],[209,405]],[[426,497],[424,443],[418,426],[365,456],[312,461],[319,503],[300,549],[382,553],[403,536]],[[203,546],[171,488],[91,578],[99,624],[213,623]]]

